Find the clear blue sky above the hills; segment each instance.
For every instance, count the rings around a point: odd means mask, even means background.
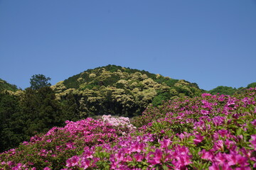
[[[0,0],[0,78],[116,64],[201,89],[256,81],[255,0]]]

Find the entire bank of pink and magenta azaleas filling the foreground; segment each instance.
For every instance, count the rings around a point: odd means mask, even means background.
[[[256,88],[67,121],[0,154],[0,169],[256,169]],[[137,128],[134,127],[137,126]]]

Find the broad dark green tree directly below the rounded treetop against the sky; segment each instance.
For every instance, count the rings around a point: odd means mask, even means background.
[[[40,132],[46,132],[53,126],[63,125],[64,119],[60,103],[55,100],[54,91],[46,86],[38,90],[26,89],[21,100],[27,138]]]

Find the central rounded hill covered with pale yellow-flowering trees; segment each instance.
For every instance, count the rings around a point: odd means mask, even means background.
[[[149,103],[202,93],[195,83],[115,65],[88,69],[52,88],[60,100],[75,98],[82,115],[139,115]]]

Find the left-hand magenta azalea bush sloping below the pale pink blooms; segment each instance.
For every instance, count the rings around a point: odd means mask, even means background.
[[[29,142],[0,154],[0,169],[61,169],[69,157],[84,148],[113,142],[129,130],[92,118],[66,121],[64,128],[52,128],[46,135],[31,137]]]

